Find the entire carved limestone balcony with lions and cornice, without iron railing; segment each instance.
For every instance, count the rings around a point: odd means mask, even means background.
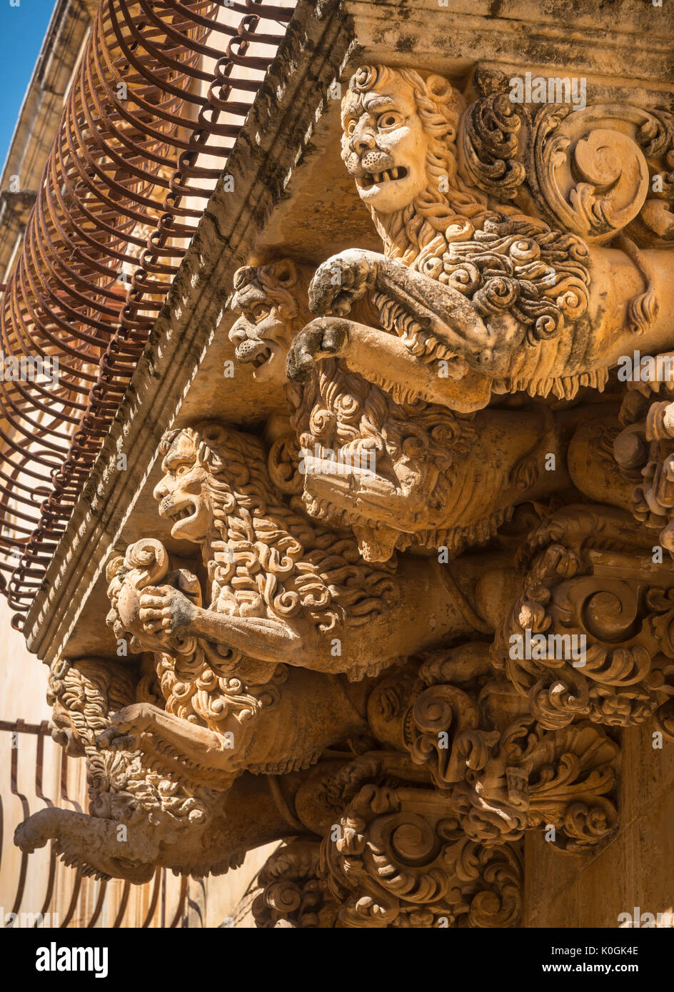
[[[612,6],[300,5],[29,616],[90,806],[23,850],[285,841],[260,927],[670,908],[672,22]]]

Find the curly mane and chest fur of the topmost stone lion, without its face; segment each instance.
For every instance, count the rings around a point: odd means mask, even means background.
[[[482,316],[508,312],[525,328],[529,346],[516,367],[497,381],[495,392],[551,390],[571,398],[579,386],[602,389],[607,373],[571,376],[562,381],[545,375],[551,355],[540,363],[534,346],[553,341],[557,350],[565,322],[574,322],[589,304],[590,253],[576,234],[552,229],[543,220],[499,203],[459,175],[457,133],[466,109],[461,94],[442,76],[386,65],[367,65],[351,77],[349,88],[365,92],[401,78],[412,89],[419,118],[430,135],[426,188],[403,209],[379,216],[370,209],[384,242],[384,253],[431,279],[451,285],[472,300]],[[443,188],[441,180],[446,178]],[[421,327],[400,304],[384,293],[372,297],[381,325],[397,333],[425,362],[452,356],[435,335]],[[532,383],[532,379],[535,382]],[[380,385],[391,389],[383,380]]]

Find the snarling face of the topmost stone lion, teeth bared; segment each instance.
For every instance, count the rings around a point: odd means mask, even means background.
[[[372,89],[349,90],[341,122],[341,158],[362,201],[377,213],[411,203],[426,186],[429,146],[412,86],[390,73]]]

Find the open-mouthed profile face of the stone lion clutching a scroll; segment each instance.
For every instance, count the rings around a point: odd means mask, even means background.
[[[180,433],[173,439],[162,470],[164,478],[153,493],[160,517],[172,521],[172,538],[202,544],[212,521],[209,474],[188,434]]]

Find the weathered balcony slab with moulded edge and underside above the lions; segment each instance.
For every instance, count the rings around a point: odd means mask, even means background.
[[[579,23],[575,14],[577,30],[570,40],[569,31],[552,15],[534,19],[535,31],[525,30],[523,25],[532,21],[527,3],[510,5],[507,17],[494,19],[488,4],[451,2],[442,15],[451,19],[451,27],[442,33],[431,0],[410,4],[395,17],[397,5],[346,3],[336,10],[327,3],[319,5],[325,19],[315,20],[306,6],[301,6],[282,58],[273,66],[229,160],[227,173],[236,191],[225,193],[220,184],[204,211],[120,411],[121,423],[114,425],[73,515],[62,546],[70,554],[55,557],[46,591],[36,597],[27,618],[29,646],[46,661],[66,649],[80,653],[103,651],[105,644],[109,648],[106,635],[100,642],[79,641],[73,627],[81,615],[80,626],[97,637],[92,629],[97,625],[87,622],[81,611],[89,595],[97,604],[91,618],[105,601],[101,561],[107,549],[126,547],[147,532],[144,506],[157,524],[151,493],[159,477],[159,435],[200,416],[204,391],[213,418],[231,424],[260,425],[275,407],[274,399],[260,395],[248,375],[220,383],[215,390],[211,385],[221,378],[223,363],[233,359],[227,330],[236,314],[227,309],[227,301],[236,268],[279,254],[319,264],[350,245],[376,249],[380,243],[338,159],[339,101],[328,95],[336,78],[347,78],[349,69],[360,62],[414,65],[455,80],[470,78],[479,66],[508,73],[526,65],[532,75],[539,68],[546,75],[583,74],[590,90],[594,85],[598,94],[629,97],[644,106],[661,101],[666,105],[674,92],[666,61],[672,26],[654,36],[651,22],[640,20],[637,4],[621,5],[624,33],[613,38],[610,58],[603,61],[598,41],[614,22],[601,10],[589,9],[587,23]],[[629,79],[629,84],[616,85],[620,78]],[[317,81],[322,84],[320,96]],[[127,457],[125,475],[116,468],[119,453]],[[167,536],[168,529],[162,540]],[[71,554],[80,543],[82,554]],[[102,554],[95,565],[88,560],[92,553]],[[77,560],[76,569],[71,558]],[[55,609],[57,602],[60,607]]]

